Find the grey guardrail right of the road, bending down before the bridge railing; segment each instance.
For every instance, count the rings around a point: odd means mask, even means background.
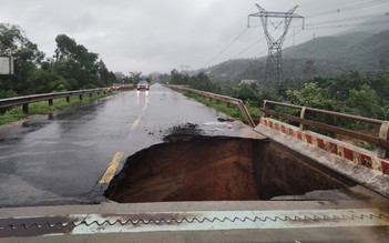
[[[237,105],[237,108],[239,109],[242,114],[246,118],[248,124],[252,128],[255,128],[255,123],[253,121],[252,115],[248,113],[246,105],[239,99],[235,99],[235,98],[231,98],[231,97],[226,97],[226,95],[221,95],[221,94],[216,94],[216,93],[209,93],[209,92],[205,92],[205,91],[201,91],[201,90],[194,90],[194,89],[191,89],[188,87],[183,87],[183,85],[168,85],[168,87],[176,89],[176,90],[180,90],[180,91],[196,93],[196,94],[199,94],[202,97],[206,97],[206,98],[209,98],[213,100],[219,100],[219,101],[224,101],[224,102],[229,103],[229,104],[235,104],[235,105]]]

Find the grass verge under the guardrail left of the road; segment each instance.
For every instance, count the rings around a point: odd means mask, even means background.
[[[66,102],[65,98],[53,100],[53,104],[49,105],[49,101],[40,101],[29,104],[29,113],[23,113],[21,105],[8,109],[3,114],[0,114],[0,125],[27,119],[29,115],[33,114],[48,114],[53,111],[63,110],[65,108],[78,105],[81,103],[89,103],[95,100],[110,97],[113,93],[101,93],[93,94],[92,97],[83,95],[83,100],[80,100],[79,95],[71,97],[70,102]]]

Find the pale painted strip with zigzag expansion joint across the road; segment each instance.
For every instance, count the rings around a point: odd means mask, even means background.
[[[387,226],[378,209],[187,211],[0,217],[0,237],[245,229]]]

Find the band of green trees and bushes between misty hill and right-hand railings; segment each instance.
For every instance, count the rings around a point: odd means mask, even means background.
[[[212,82],[203,72],[190,77],[172,71],[170,83],[237,98],[247,107],[254,108],[260,108],[264,100],[273,100],[380,120],[389,119],[389,73],[362,75],[347,72],[335,77],[298,78],[286,80],[274,89],[257,83],[222,87]],[[202,102],[207,102],[207,99]]]

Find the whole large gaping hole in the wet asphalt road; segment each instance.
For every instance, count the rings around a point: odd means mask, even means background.
[[[104,195],[120,203],[258,201],[352,185],[268,139],[172,135],[129,156]]]

